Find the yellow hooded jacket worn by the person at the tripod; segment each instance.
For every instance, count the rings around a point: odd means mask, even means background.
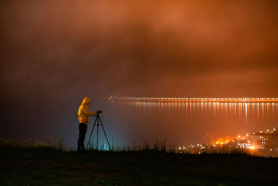
[[[95,114],[97,114],[96,111],[90,112],[88,110],[90,101],[92,101],[92,100],[86,96],[84,98],[81,106],[79,107],[79,113],[78,113],[79,114],[79,123],[88,124],[89,123],[89,116],[94,116]]]

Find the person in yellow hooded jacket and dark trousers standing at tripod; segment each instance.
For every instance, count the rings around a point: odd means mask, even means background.
[[[92,100],[87,96],[83,99],[81,106],[79,107],[79,139],[77,143],[77,152],[85,151],[84,139],[88,128],[89,117],[100,113],[101,111],[90,112],[88,110],[89,104]]]

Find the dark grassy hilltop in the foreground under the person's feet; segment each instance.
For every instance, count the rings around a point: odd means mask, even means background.
[[[278,158],[0,146],[0,185],[277,185]]]

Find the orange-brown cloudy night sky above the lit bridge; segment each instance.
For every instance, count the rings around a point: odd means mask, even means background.
[[[97,91],[87,86],[97,84],[107,94],[147,95],[156,91],[146,87],[197,85],[206,76],[217,89],[215,79],[278,69],[275,7],[275,1],[5,1],[1,79],[11,90],[24,85],[23,92]],[[276,83],[268,74],[262,81]],[[190,87],[178,89],[186,94]]]

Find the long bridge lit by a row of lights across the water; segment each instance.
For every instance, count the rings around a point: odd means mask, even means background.
[[[113,95],[109,100],[127,102],[278,102],[278,98],[135,98]]]

